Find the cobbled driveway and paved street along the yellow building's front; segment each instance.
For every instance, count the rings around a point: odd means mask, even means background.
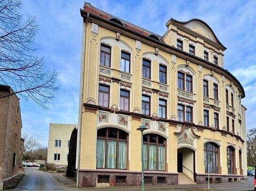
[[[60,173],[47,173],[35,167],[25,168],[25,176],[14,191],[141,191],[141,186],[74,188],[75,183]],[[145,191],[190,191],[208,189],[208,184],[145,186]],[[210,191],[254,191],[254,177],[245,181],[210,184]]]

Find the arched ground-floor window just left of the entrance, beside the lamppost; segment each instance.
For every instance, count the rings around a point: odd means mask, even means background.
[[[157,134],[143,135],[144,170],[165,170],[165,142]]]

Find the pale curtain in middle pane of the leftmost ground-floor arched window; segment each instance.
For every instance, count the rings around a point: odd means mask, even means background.
[[[116,168],[116,140],[107,140],[107,168]]]

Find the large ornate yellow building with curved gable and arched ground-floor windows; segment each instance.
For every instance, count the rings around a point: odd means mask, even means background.
[[[80,12],[79,187],[140,185],[141,149],[146,184],[247,176],[245,92],[205,22],[170,19],[159,36],[89,3]]]

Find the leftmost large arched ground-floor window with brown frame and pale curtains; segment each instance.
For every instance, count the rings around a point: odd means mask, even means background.
[[[97,131],[96,168],[127,168],[128,134],[116,128]]]

